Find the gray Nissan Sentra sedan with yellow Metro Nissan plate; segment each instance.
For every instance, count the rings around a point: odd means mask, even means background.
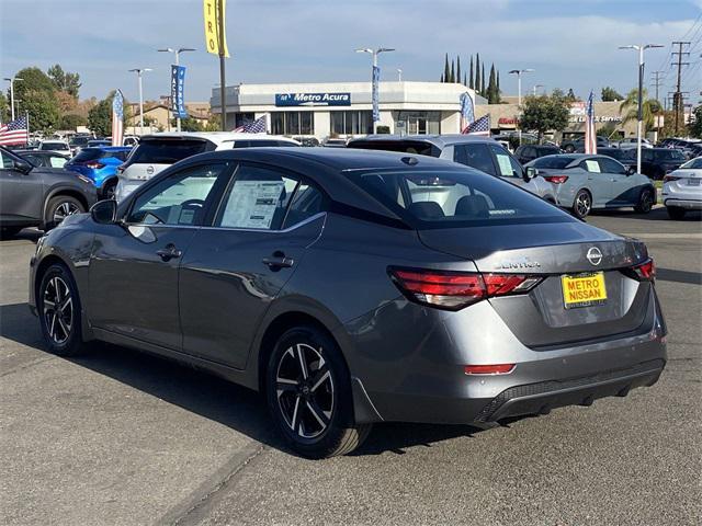
[[[52,352],[102,340],[260,390],[315,458],[374,422],[490,426],[623,397],[666,363],[642,242],[428,157],[195,156],[67,218],[31,273]]]

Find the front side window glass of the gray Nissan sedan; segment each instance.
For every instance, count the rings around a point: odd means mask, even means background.
[[[202,225],[212,190],[227,163],[188,168],[160,181],[134,202],[127,222],[147,225]]]

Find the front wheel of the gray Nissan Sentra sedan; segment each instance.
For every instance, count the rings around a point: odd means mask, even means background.
[[[76,356],[86,350],[82,340],[78,287],[63,264],[49,266],[36,291],[36,310],[48,351],[58,356]]]

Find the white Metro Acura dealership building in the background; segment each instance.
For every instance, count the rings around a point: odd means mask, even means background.
[[[463,93],[487,101],[458,83],[381,82],[378,127],[390,134],[457,134]],[[211,99],[222,112],[220,90]],[[371,82],[238,84],[225,90],[226,125],[234,129],[267,116],[274,135],[352,137],[373,132]]]

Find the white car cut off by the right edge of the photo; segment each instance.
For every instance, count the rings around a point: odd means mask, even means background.
[[[702,210],[702,157],[664,178],[663,204],[670,219],[682,219],[688,210]]]

